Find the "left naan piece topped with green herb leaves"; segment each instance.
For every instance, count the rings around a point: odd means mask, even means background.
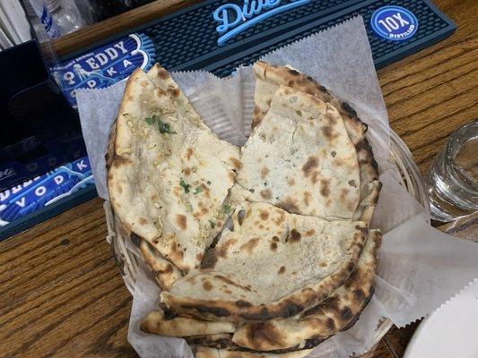
[[[229,208],[239,149],[201,121],[168,72],[136,70],[126,84],[109,145],[115,213],[161,257],[187,272],[199,265]]]

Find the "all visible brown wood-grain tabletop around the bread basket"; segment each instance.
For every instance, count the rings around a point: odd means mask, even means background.
[[[451,38],[378,71],[390,123],[422,169],[450,132],[476,118],[478,2],[435,0]],[[100,199],[0,243],[0,357],[135,357],[131,296],[105,241]],[[393,328],[367,357],[404,353]]]

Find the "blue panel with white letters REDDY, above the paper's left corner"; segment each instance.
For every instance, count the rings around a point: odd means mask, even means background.
[[[68,102],[76,107],[75,90],[109,87],[138,67],[147,71],[155,58],[152,40],[143,33],[134,33],[56,64],[50,71]]]

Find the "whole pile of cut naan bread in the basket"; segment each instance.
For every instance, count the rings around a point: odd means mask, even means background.
[[[305,356],[351,327],[373,292],[379,234],[365,238],[380,183],[366,125],[299,72],[255,70],[260,124],[244,165],[159,65],[131,76],[109,141],[113,209],[169,290],[167,313],[141,328],[210,346],[197,357]]]

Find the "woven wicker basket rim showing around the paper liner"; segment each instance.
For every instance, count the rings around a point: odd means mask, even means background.
[[[430,211],[430,204],[422,182],[422,176],[418,167],[413,162],[412,153],[406,147],[404,141],[393,131],[390,131],[390,155],[388,161],[398,168],[401,175],[401,184],[410,192],[418,202],[422,204],[425,210]],[[125,280],[127,289],[131,294],[135,291],[135,277],[139,269],[143,269],[143,260],[139,255],[127,250],[129,236],[124,232],[121,225],[118,225],[118,219],[114,215],[109,201],[103,204],[106,213],[106,222],[108,226],[107,241],[111,244],[113,257],[117,261],[117,266]],[[430,213],[430,212],[429,212]],[[375,342],[385,336],[388,329],[393,326],[391,320],[383,320],[378,324],[375,332]]]

